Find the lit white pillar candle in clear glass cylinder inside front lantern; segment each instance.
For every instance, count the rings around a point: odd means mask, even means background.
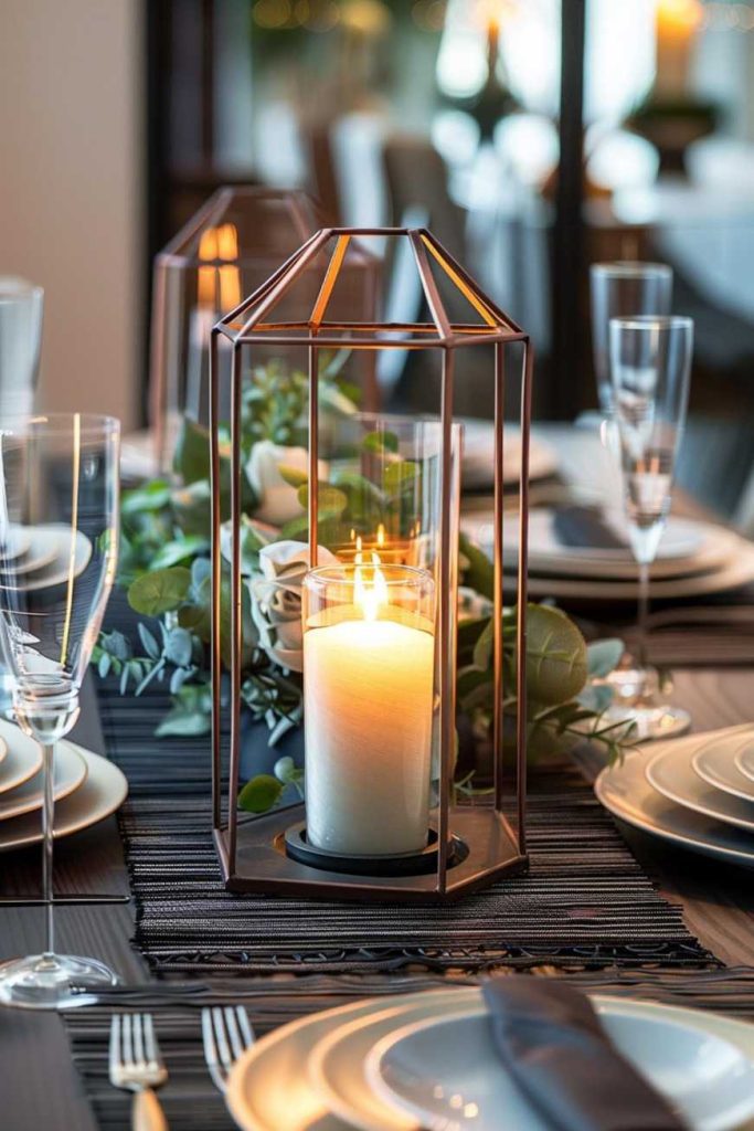
[[[306,839],[347,856],[422,852],[428,834],[435,586],[375,559],[304,582]]]

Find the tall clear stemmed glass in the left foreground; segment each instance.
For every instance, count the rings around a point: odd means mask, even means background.
[[[71,983],[116,981],[96,959],[55,952],[52,838],[54,748],[78,718],[79,690],[115,575],[119,446],[120,423],[106,416],[0,421],[0,647],[14,717],[44,752],[46,905],[43,953],[0,965],[2,1004],[55,1009]]]

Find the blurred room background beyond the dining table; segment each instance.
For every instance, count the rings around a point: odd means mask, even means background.
[[[596,406],[589,264],[670,264],[696,322],[681,478],[746,506],[754,2],[3,0],[0,76],[2,269],[45,287],[44,407],[140,426],[155,254],[220,184],[302,188],[329,222],[430,226],[532,335],[539,420]],[[428,407],[410,366],[382,380]]]

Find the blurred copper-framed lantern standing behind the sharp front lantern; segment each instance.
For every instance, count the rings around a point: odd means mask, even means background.
[[[208,425],[211,327],[244,294],[257,291],[320,223],[318,208],[305,192],[225,185],[156,256],[149,423],[158,472],[171,468],[184,418]],[[366,252],[350,257],[349,290],[356,314],[373,310],[376,266]],[[229,403],[229,388],[222,390],[222,398]],[[375,390],[365,388],[365,400],[374,399]]]

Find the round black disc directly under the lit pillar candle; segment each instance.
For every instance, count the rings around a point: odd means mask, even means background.
[[[437,830],[430,829],[426,847],[419,852],[396,853],[393,855],[349,855],[317,848],[306,839],[306,824],[301,821],[285,832],[286,856],[320,867],[326,872],[346,875],[418,875],[437,870]],[[452,832],[448,840],[448,867],[453,867],[468,856],[463,841]]]

